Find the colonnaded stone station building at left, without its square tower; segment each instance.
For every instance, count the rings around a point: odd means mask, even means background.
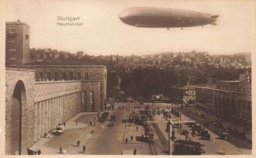
[[[5,71],[5,153],[8,155],[26,154],[45,133],[79,112],[99,112],[106,99],[106,67],[25,68],[6,68]],[[36,73],[41,70],[75,75],[74,69],[87,73],[88,77],[36,81]]]

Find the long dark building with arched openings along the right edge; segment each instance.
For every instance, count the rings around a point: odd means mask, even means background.
[[[195,102],[207,112],[251,129],[251,71],[240,74],[239,81],[217,81],[216,87],[195,88]]]

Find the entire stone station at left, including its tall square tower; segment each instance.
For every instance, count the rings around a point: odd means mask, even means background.
[[[10,23],[15,36],[9,36]],[[106,100],[106,66],[29,64],[26,48],[18,46],[29,46],[28,28],[22,22],[6,22],[6,155],[28,154],[45,133],[79,112],[99,112]]]

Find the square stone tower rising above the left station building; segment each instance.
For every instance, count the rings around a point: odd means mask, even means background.
[[[5,23],[5,64],[29,63],[29,26],[20,22]]]

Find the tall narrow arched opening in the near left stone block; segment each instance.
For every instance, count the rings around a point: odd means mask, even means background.
[[[10,154],[22,153],[22,107],[26,106],[26,89],[22,81],[18,81],[12,95],[10,111]]]

